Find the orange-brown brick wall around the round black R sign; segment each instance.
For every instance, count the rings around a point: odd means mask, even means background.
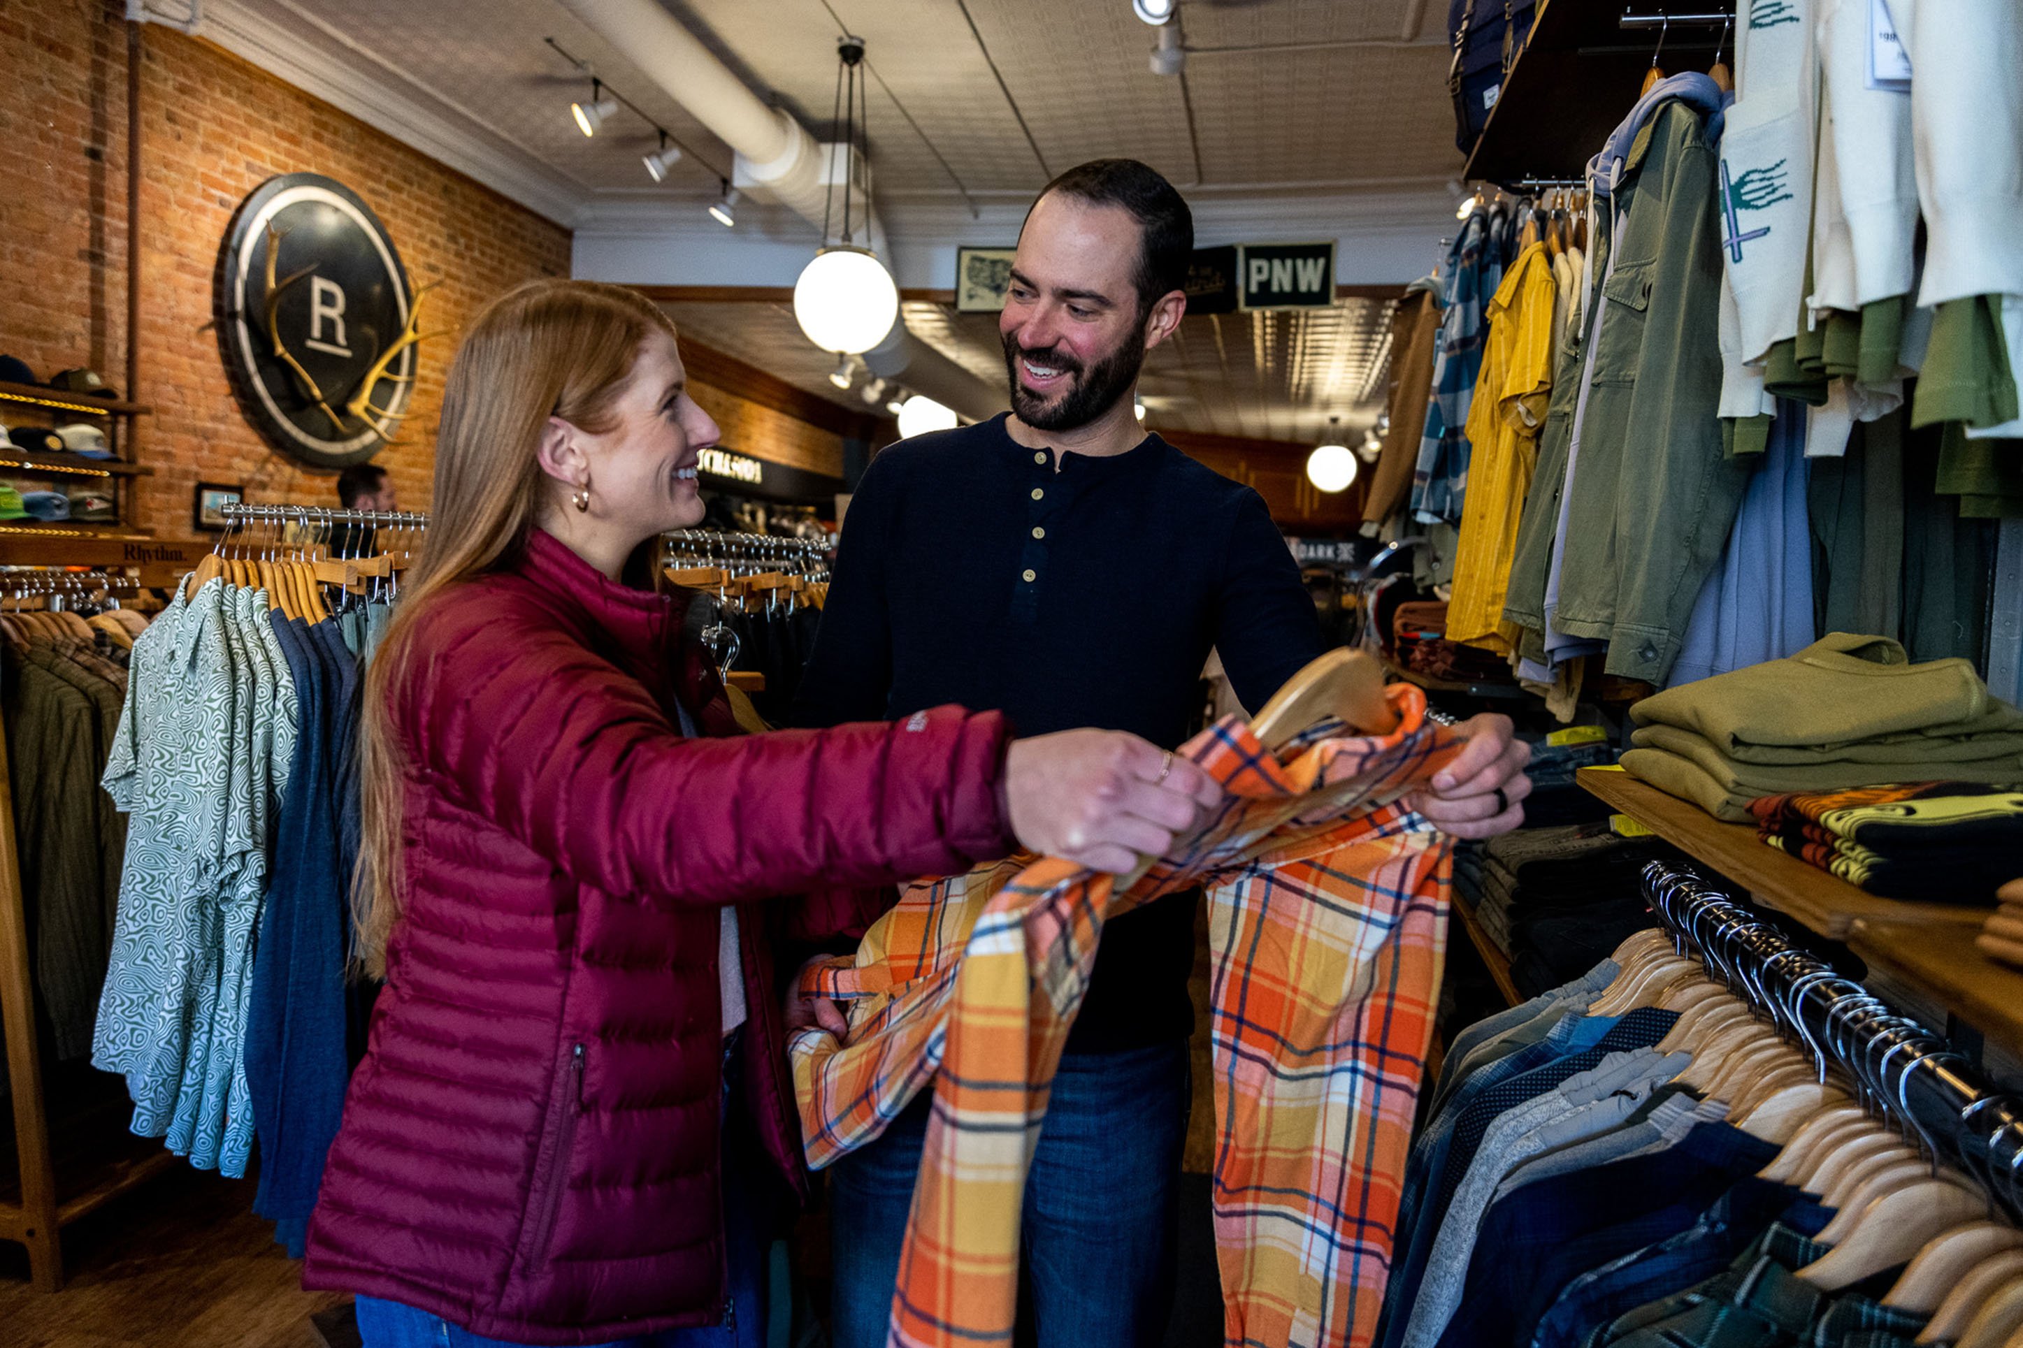
[[[49,378],[91,366],[125,384],[125,59],[119,0],[8,0],[0,49],[0,352]],[[328,174],[386,222],[425,327],[467,323],[532,277],[566,277],[568,230],[477,186],[237,57],[172,28],[142,32],[142,331],[138,523],[190,532],[198,481],[253,501],[336,503],[332,475],[267,447],[227,384],[212,277],[233,210],[275,174]],[[403,445],[374,463],[427,509],[435,422],[455,338],[423,346]]]

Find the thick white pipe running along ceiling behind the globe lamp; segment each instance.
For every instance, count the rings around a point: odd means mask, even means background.
[[[815,228],[827,224],[829,188],[823,160],[833,152],[791,115],[767,105],[655,0],[562,0],[562,4],[730,146],[738,156],[738,188],[763,188]],[[870,216],[870,243],[890,267],[892,259],[876,212]],[[872,364],[872,354],[866,354],[872,372],[902,380],[908,388],[975,420],[993,416],[1007,404],[1005,390],[991,388],[910,335],[904,321],[892,325],[892,335],[876,356]]]

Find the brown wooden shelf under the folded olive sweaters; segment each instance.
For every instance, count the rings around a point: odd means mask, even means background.
[[[2023,1059],[2023,972],[1987,958],[1974,936],[1987,905],[1881,899],[1756,837],[1667,796],[1620,768],[1582,768],[1580,784],[1679,851],[1869,966],[1869,978],[1962,1043],[1976,1037],[2009,1063]]]

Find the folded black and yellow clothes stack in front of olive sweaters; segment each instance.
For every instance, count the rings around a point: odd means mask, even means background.
[[[1993,903],[2023,873],[2023,794],[1906,782],[1750,802],[1764,843],[1885,899]]]

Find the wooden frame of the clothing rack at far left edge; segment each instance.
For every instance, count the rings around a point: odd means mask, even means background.
[[[30,574],[47,576],[36,594],[77,596],[87,582],[103,580],[136,586],[144,576],[115,578],[109,570],[75,572],[40,566],[8,566],[0,590],[26,594]],[[59,580],[61,578],[61,580]],[[34,1021],[34,984],[28,976],[28,909],[20,885],[20,851],[14,839],[14,778],[8,766],[6,728],[0,726],[0,1027],[6,1035],[6,1075],[14,1095],[14,1160],[20,1194],[0,1200],[0,1239],[28,1247],[28,1277],[38,1291],[63,1285],[63,1229],[105,1207],[136,1184],[168,1170],[174,1156],[154,1144],[111,1158],[89,1184],[57,1186],[51,1150],[49,1099],[42,1081],[42,1049]]]

